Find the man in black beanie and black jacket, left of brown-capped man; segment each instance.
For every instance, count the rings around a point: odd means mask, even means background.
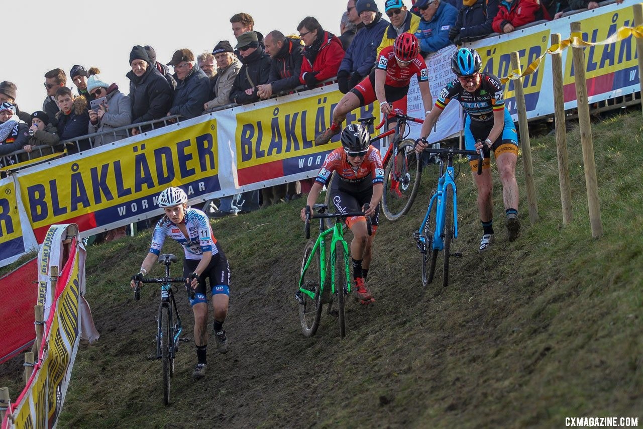
[[[129,64],[132,67],[127,73],[130,80],[129,99],[132,107],[132,124],[164,118],[172,107],[172,87],[165,77],[152,67],[150,57],[145,48],[134,46],[129,54]],[[152,129],[150,125],[142,131]],[[132,135],[139,133],[138,128],[132,129]]]

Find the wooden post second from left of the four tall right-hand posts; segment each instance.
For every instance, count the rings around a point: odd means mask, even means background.
[[[560,44],[561,35],[552,33],[552,46]],[[563,55],[552,53],[552,78],[554,82],[554,118],[556,124],[556,154],[558,158],[558,181],[561,186],[563,225],[572,221],[572,190],[569,183],[567,162],[567,133],[565,129],[565,96],[563,95]]]

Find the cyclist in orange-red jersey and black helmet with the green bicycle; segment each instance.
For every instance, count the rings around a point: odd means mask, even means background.
[[[313,206],[321,188],[328,185],[332,172],[336,171],[339,180],[334,182],[331,192],[332,203],[337,212],[359,212],[368,203],[365,215],[371,218],[372,235],[368,235],[366,219],[363,216],[349,217],[346,223],[353,233],[350,242],[350,257],[353,262],[353,293],[361,304],[374,302],[366,284],[368,269],[372,259],[372,246],[377,231],[379,201],[384,189],[384,169],[379,151],[370,145],[370,135],[366,127],[350,124],[341,132],[341,147],[327,156],[320,172],[312,185],[306,201]],[[305,221],[305,207],[302,220]],[[326,299],[325,297],[321,297]]]

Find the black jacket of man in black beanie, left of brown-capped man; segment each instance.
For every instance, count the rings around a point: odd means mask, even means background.
[[[132,123],[147,122],[167,116],[172,107],[172,87],[154,67],[148,67],[143,76],[129,71],[129,101],[132,105]]]

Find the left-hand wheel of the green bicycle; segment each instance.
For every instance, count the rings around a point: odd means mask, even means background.
[[[315,241],[311,240],[306,244],[303,250],[302,271],[300,278],[302,278],[301,285],[303,289],[314,293],[314,298],[309,297],[302,291],[298,292],[300,298],[299,304],[299,320],[302,324],[302,333],[304,336],[313,336],[317,332],[320,325],[321,318],[321,252],[317,248],[314,253],[312,252]],[[312,258],[312,259],[311,259]],[[308,268],[304,271],[304,267],[308,260],[311,259]]]

